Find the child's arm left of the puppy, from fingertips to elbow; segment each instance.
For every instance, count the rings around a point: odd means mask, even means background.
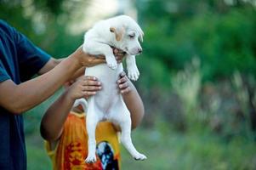
[[[43,116],[40,126],[43,139],[52,142],[59,139],[65,119],[71,111],[75,99],[94,95],[100,88],[100,82],[95,77],[81,77],[67,88]]]

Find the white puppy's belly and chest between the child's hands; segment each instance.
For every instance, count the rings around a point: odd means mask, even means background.
[[[118,64],[116,70],[111,70],[106,64],[86,68],[85,76],[97,77],[101,82],[102,89],[91,97],[94,99],[89,99],[88,102],[94,102],[93,105],[102,114],[109,114],[113,105],[117,103],[118,99],[121,99],[117,80],[122,71],[122,64]]]

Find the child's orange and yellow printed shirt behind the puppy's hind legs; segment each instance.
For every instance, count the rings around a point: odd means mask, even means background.
[[[120,148],[117,131],[111,122],[100,122],[96,128],[97,161],[87,164],[88,134],[83,114],[71,113],[54,150],[54,170],[111,169],[120,167]]]

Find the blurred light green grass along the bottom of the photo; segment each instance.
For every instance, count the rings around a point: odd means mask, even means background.
[[[148,159],[134,161],[122,148],[123,170],[256,169],[256,144],[246,139],[235,137],[227,142],[210,133],[161,133],[142,127],[132,136],[136,148]],[[51,169],[42,139],[31,135],[26,144],[28,170]]]

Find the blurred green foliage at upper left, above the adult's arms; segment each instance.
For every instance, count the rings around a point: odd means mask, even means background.
[[[82,45],[83,33],[72,35],[68,26],[76,12],[71,8],[86,2],[88,1],[0,1],[0,18],[54,58],[63,58]],[[65,4],[68,7],[63,8]],[[76,15],[76,20],[80,17]]]

